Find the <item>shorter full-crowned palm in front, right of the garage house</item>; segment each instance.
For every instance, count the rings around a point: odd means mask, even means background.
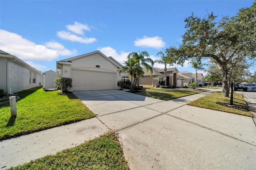
[[[127,61],[124,61],[124,66],[120,67],[120,73],[128,73],[129,77],[134,78],[133,82],[131,80],[131,90],[133,90],[135,79],[138,76],[142,76],[144,74],[144,71],[142,67],[140,66],[140,60],[136,59],[134,57],[128,58]]]

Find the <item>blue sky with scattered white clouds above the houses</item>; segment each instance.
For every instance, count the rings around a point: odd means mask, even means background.
[[[0,49],[40,71],[56,61],[100,50],[123,63],[130,52],[156,54],[182,43],[184,19],[194,12],[234,16],[254,0],[0,1]],[[155,64],[154,67],[163,68]],[[179,71],[195,72],[188,64]],[[250,67],[256,71],[256,67]],[[200,71],[203,72],[203,71]]]

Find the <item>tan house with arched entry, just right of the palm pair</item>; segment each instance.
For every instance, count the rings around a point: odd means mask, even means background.
[[[140,77],[139,84],[144,87],[159,87],[161,83],[164,83],[164,69],[152,68],[153,73],[150,77],[150,71],[146,72],[146,68],[143,68],[144,77]],[[178,75],[178,69],[176,67],[167,68],[166,71],[166,83],[169,86],[180,87],[183,83],[183,77]]]

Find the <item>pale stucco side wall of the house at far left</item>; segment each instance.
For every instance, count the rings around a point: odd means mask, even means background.
[[[25,68],[16,62],[9,62],[7,74],[8,79],[6,82],[8,89],[5,88],[7,92],[16,93],[18,91],[40,86],[42,84],[42,76],[36,73],[36,83],[32,83],[32,79],[30,83],[30,71],[33,76],[34,70]]]

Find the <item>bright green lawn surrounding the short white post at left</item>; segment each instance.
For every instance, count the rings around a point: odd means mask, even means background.
[[[58,93],[42,86],[20,91],[16,117],[9,103],[0,105],[0,140],[95,117],[73,93]]]

